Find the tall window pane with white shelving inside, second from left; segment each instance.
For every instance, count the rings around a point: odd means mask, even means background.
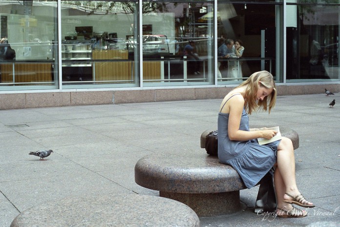
[[[136,2],[62,1],[63,85],[136,87]]]

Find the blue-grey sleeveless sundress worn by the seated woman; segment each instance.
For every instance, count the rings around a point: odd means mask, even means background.
[[[257,139],[230,140],[228,120],[229,114],[218,113],[218,159],[221,163],[233,166],[246,187],[252,188],[276,163],[277,146],[281,140],[265,145],[259,145]],[[249,131],[249,117],[244,109],[239,129]]]

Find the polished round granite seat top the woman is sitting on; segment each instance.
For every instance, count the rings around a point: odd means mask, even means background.
[[[203,150],[152,154],[135,165],[135,182],[143,187],[175,193],[217,193],[246,188],[233,167]]]

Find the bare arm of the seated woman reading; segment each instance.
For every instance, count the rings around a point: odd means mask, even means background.
[[[277,132],[274,130],[239,130],[244,106],[244,99],[241,95],[235,95],[232,97],[228,101],[227,105],[227,108],[229,108],[228,135],[230,140],[246,141],[260,137],[270,139],[276,135]]]

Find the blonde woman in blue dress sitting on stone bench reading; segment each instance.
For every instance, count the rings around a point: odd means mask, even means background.
[[[254,187],[275,166],[274,184],[278,217],[305,217],[302,207],[314,207],[297,189],[292,141],[287,137],[259,145],[257,138],[270,139],[276,131],[249,128],[248,114],[270,113],[276,103],[276,85],[268,71],[253,73],[223,99],[218,113],[218,159],[234,167],[247,188]]]

